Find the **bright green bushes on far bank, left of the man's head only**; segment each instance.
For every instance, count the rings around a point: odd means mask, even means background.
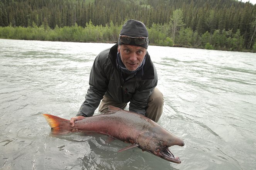
[[[92,22],[86,23],[86,27],[78,26],[76,23],[72,27],[54,29],[47,27],[47,24],[37,27],[0,27],[0,38],[20,39],[20,40],[46,40],[46,41],[75,41],[75,42],[110,42],[118,36],[113,33],[120,32],[121,26],[106,27],[94,26]],[[115,39],[117,41],[117,39]]]

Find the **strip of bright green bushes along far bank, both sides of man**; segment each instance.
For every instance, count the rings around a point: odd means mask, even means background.
[[[93,43],[116,43],[122,26],[94,26],[88,23],[85,28],[78,25],[72,27],[60,28],[56,26],[54,29],[45,27],[44,25],[37,27],[0,27],[0,38],[14,40],[40,40],[40,41],[60,41],[60,42],[93,42]],[[243,38],[240,32],[235,34],[229,33],[226,36],[225,31],[216,30],[214,35],[208,32],[202,36],[196,32],[192,33],[190,28],[180,30],[176,36],[175,42],[170,37],[164,36],[164,33],[154,27],[148,28],[150,45],[184,47],[184,48],[200,48],[208,50],[225,50],[239,52],[256,52],[256,43],[253,49],[243,48]],[[190,32],[190,37],[186,33]],[[192,34],[191,34],[192,33]],[[217,36],[217,33],[219,35]],[[221,37],[222,36],[222,37]],[[216,37],[219,40],[216,40]]]

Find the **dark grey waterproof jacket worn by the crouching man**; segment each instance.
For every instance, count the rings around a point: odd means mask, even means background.
[[[115,44],[95,58],[90,73],[90,87],[77,116],[92,116],[103,95],[119,103],[130,102],[130,111],[145,115],[147,99],[158,82],[156,68],[147,52],[143,68],[134,77],[124,81],[116,65],[117,47],[118,44]]]

